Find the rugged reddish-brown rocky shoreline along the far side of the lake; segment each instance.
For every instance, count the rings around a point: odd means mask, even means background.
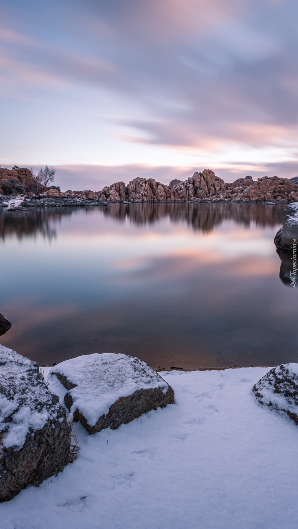
[[[290,203],[298,202],[297,177],[258,178],[251,176],[225,183],[210,169],[195,172],[185,181],[172,180],[169,186],[156,182],[153,178],[135,178],[125,185],[117,182],[104,187],[101,191],[65,191],[58,188],[46,189],[38,196],[25,192],[26,182],[30,180],[29,169],[0,168],[0,207],[10,211],[29,211],[32,207],[88,207],[113,203]],[[18,192],[12,200],[12,194],[4,194],[5,183],[10,183]],[[15,182],[15,184],[13,184]],[[2,186],[2,187],[1,187]],[[16,194],[15,194],[16,195]]]

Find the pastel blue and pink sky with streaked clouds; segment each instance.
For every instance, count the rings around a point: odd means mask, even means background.
[[[298,174],[294,0],[0,0],[0,165]]]

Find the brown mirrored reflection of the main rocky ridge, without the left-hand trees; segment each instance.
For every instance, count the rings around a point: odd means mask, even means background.
[[[184,221],[195,230],[211,231],[225,220],[233,220],[249,226],[275,226],[282,223],[284,204],[113,204],[104,206],[106,216],[124,221],[129,218],[135,224],[154,223],[169,217],[171,222]]]

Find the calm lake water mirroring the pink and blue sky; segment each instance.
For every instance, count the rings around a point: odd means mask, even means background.
[[[284,205],[0,213],[1,343],[40,363],[124,352],[154,368],[297,361]]]

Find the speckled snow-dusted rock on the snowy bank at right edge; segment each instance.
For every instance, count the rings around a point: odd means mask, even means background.
[[[298,425],[298,363],[277,366],[253,387],[259,402],[287,415]]]

